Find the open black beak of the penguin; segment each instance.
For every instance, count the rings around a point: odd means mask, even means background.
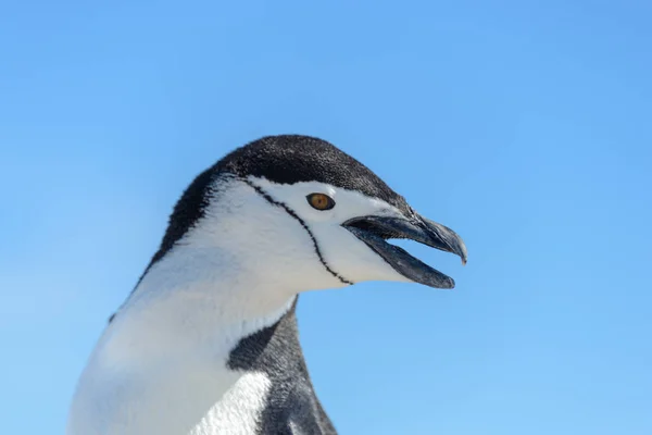
[[[436,269],[409,254],[404,249],[388,244],[390,238],[418,241],[429,247],[455,253],[466,264],[466,246],[452,229],[413,213],[410,217],[363,216],[342,224],[364,241],[398,273],[406,278],[435,288],[453,288],[455,282]]]

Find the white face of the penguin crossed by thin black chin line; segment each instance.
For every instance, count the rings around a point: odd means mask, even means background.
[[[393,206],[317,182],[281,185],[249,177],[221,186],[184,241],[228,251],[236,268],[258,275],[267,287],[298,293],[362,281],[409,281],[342,226],[353,217],[402,216]],[[335,207],[315,209],[306,199],[311,194],[327,195]]]

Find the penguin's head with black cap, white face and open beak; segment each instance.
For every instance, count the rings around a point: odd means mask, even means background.
[[[452,229],[421,216],[358,160],[314,137],[269,136],[236,149],[191,183],[150,268],[184,250],[213,257],[215,264],[227,260],[240,276],[290,293],[364,281],[454,286],[392,238],[466,261]]]

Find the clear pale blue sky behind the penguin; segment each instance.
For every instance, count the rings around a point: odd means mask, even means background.
[[[63,433],[197,173],[303,133],[469,250],[301,298],[342,434],[652,434],[651,4],[2,3],[2,433]]]

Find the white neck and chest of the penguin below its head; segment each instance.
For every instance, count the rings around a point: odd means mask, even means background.
[[[265,347],[283,319],[293,323],[297,295],[234,260],[178,246],[148,270],[90,358],[68,434],[254,432],[269,380],[249,371],[260,351],[231,352],[249,337]]]

